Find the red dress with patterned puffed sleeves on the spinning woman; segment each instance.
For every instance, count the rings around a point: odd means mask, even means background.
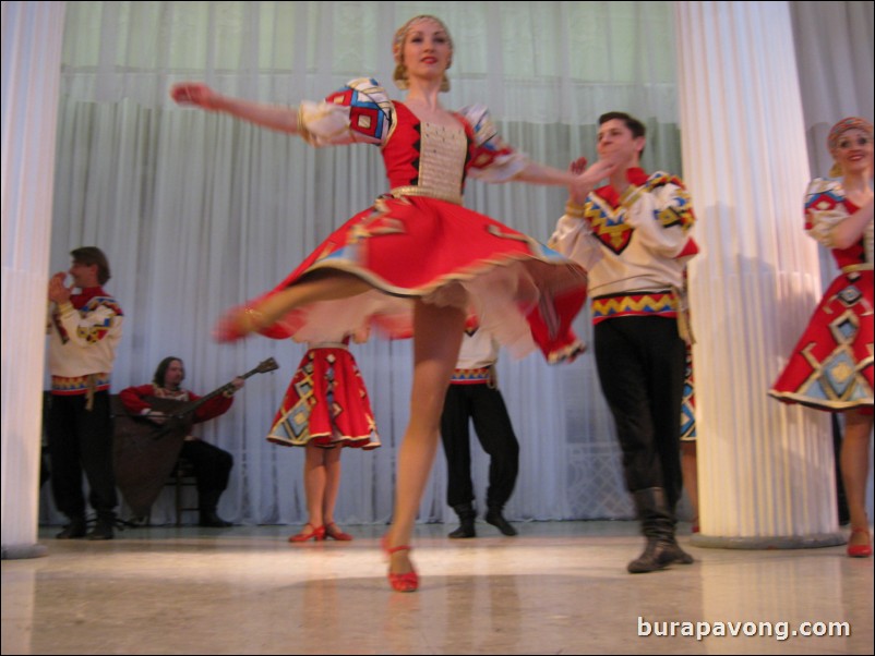
[[[326,329],[352,333],[370,325],[389,338],[409,338],[411,301],[419,297],[464,307],[516,355],[539,348],[560,362],[582,351],[571,323],[586,300],[584,269],[462,206],[468,175],[506,182],[525,168],[525,157],[501,141],[484,108],[456,116],[457,129],[421,122],[368,78],[321,104],[301,104],[299,129],[311,145],[379,145],[391,191],[328,236],[274,292],[322,268],[351,272],[373,290],[292,309],[262,335],[309,342]]]

